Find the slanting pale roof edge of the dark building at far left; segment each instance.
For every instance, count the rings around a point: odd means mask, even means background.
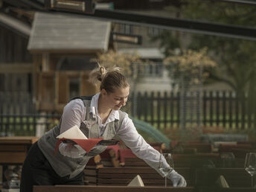
[[[0,13],[0,25],[4,25],[5,27],[19,32],[27,37],[31,34],[31,26],[4,13]]]

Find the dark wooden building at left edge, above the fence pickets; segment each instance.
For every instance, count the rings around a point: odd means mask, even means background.
[[[0,13],[0,92],[31,92],[31,26]]]

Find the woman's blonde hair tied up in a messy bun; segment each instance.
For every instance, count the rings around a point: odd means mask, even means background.
[[[106,92],[115,92],[115,89],[124,89],[129,86],[127,77],[121,73],[121,68],[113,67],[106,69],[102,65],[98,64],[89,76],[92,83],[100,81],[100,90],[105,89]]]

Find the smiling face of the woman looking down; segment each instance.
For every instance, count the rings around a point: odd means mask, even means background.
[[[127,88],[115,89],[113,93],[107,93],[105,89],[101,90],[106,106],[113,110],[119,110],[125,106],[129,96],[129,86]]]

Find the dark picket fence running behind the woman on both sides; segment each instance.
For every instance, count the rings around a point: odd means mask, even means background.
[[[186,94],[186,100],[193,100],[193,92]],[[205,127],[224,129],[256,129],[256,108],[243,107],[234,92],[203,92],[200,115],[186,108],[188,127],[197,122]],[[249,106],[248,100],[244,100]],[[158,129],[173,129],[180,126],[179,92],[132,93],[124,111],[135,118],[146,121]],[[1,135],[34,135],[36,126],[50,129],[57,124],[60,115],[7,115],[0,114]]]

